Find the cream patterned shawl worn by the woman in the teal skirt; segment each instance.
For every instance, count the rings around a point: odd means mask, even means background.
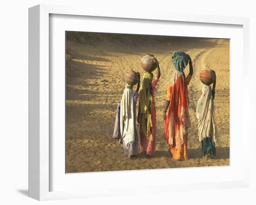
[[[196,106],[196,118],[198,120],[199,141],[206,137],[212,137],[213,141],[217,139],[217,127],[214,113],[214,101],[212,89],[209,85],[202,88],[202,96],[199,98]]]

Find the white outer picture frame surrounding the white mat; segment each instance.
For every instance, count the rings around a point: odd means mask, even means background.
[[[66,14],[75,16],[90,17],[111,17],[125,19],[145,19],[159,21],[175,21],[188,23],[205,23],[221,25],[243,26],[243,81],[249,78],[249,19],[241,17],[222,17],[210,15],[175,14],[175,13],[145,13],[136,11],[98,11],[70,6],[38,5],[29,8],[29,197],[37,200],[51,199],[73,199],[97,196],[113,196],[133,193],[150,192],[150,186],[145,186],[144,190],[123,190],[115,193],[95,192],[92,189],[84,191],[51,191],[51,169],[50,159],[50,112],[51,110],[51,90],[50,90],[50,20],[52,14]],[[243,91],[243,127],[245,120],[249,116],[249,89],[242,88]],[[232,116],[232,115],[231,115]],[[243,141],[249,141],[249,129],[243,129]],[[234,188],[249,186],[249,150],[244,150],[243,176],[228,181],[215,183],[186,183],[175,185],[175,191]],[[248,156],[248,157],[246,157]],[[190,170],[192,170],[191,168]],[[164,172],[167,172],[165,170]],[[141,171],[144,172],[144,171]],[[191,171],[192,172],[192,171]],[[105,173],[98,173],[104,177]],[[118,174],[117,174],[118,175]],[[92,176],[92,175],[91,175]],[[102,185],[104,186],[104,184]],[[113,185],[113,189],[117,186]],[[173,187],[168,184],[157,185],[157,192],[172,192]]]

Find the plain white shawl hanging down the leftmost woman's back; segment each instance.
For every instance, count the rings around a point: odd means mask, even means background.
[[[120,131],[125,145],[135,141],[135,119],[133,111],[133,89],[125,88],[120,107]]]

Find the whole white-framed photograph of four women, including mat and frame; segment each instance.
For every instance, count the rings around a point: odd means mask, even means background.
[[[29,8],[29,196],[248,187],[248,52],[247,18]]]

